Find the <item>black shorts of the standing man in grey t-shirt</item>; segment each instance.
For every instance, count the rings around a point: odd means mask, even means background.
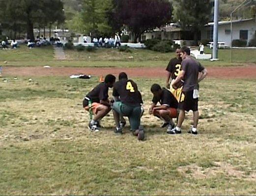
[[[182,94],[185,96],[184,100],[179,102],[178,108],[180,110],[190,111],[193,112],[198,111],[198,98],[193,98],[194,91],[187,91],[182,92]]]

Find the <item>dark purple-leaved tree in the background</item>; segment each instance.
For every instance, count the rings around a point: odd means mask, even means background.
[[[146,30],[171,22],[171,14],[169,0],[114,0],[112,20],[119,26],[126,25],[133,32],[136,43]]]

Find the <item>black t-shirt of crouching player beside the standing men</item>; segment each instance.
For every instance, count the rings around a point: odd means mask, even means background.
[[[178,108],[178,101],[177,99],[172,95],[172,93],[167,90],[166,88],[163,88],[163,93],[161,98],[153,97],[152,102],[157,104],[160,102],[161,105],[166,105],[171,108]]]

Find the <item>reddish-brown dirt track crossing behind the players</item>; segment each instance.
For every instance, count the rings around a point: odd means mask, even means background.
[[[216,78],[256,78],[256,65],[240,67],[208,67],[209,77]],[[53,67],[3,67],[2,75],[7,76],[69,76],[72,74],[106,75],[112,73],[118,75],[126,72],[133,77],[165,77],[164,68],[68,68]]]

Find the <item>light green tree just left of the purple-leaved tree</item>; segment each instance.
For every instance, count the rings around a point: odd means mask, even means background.
[[[92,37],[109,34],[111,27],[106,16],[110,9],[112,9],[111,0],[84,0],[81,18],[85,33],[91,33]]]

